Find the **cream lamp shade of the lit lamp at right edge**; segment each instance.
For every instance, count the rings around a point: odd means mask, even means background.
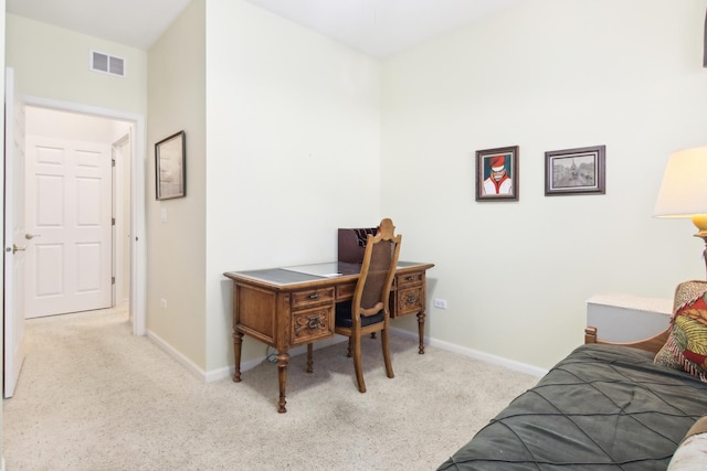
[[[707,215],[707,147],[685,149],[671,156],[653,215]]]

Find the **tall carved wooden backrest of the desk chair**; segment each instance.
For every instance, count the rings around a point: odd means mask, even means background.
[[[384,218],[376,235],[368,235],[361,275],[356,285],[352,300],[352,314],[372,315],[381,310],[388,312],[390,288],[395,276],[400,242],[402,236],[393,235],[395,226]]]

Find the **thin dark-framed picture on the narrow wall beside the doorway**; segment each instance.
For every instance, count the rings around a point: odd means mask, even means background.
[[[176,132],[155,144],[155,183],[157,200],[187,195],[187,139]]]

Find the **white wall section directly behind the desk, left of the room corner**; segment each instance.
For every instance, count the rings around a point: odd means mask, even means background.
[[[241,0],[207,3],[207,335],[218,368],[233,364],[224,271],[331,260],[337,227],[380,221],[380,65]],[[244,361],[264,353],[244,341]]]

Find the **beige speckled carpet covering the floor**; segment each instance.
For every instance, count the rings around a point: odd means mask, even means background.
[[[7,470],[434,470],[536,377],[393,335],[363,342],[368,392],[346,344],[293,357],[287,414],[263,362],[203,384],[115,310],[27,323],[15,396],[3,403]],[[265,345],[263,345],[265,352]]]

